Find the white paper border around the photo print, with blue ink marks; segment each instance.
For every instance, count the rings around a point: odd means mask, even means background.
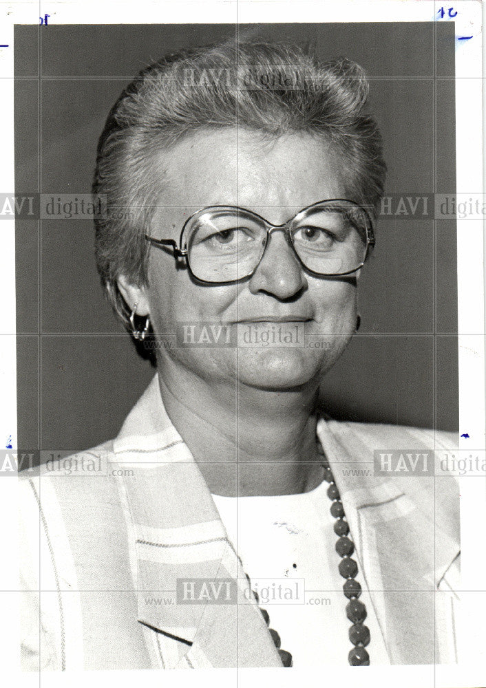
[[[481,5],[473,0],[458,0],[454,3],[413,1],[413,0],[357,0],[355,2],[321,1],[224,1],[158,2],[138,0],[136,3],[97,0],[83,2],[43,2],[43,3],[0,3],[0,43],[8,43],[9,48],[0,48],[1,79],[1,151],[0,189],[14,189],[13,156],[13,23],[37,24],[39,17],[50,14],[51,24],[81,23],[284,23],[284,22],[334,22],[334,21],[435,21],[439,8],[446,10],[453,6],[458,15],[454,18],[456,35],[473,35],[470,41],[456,43],[456,173],[457,191],[470,194],[483,193],[482,164],[482,112],[481,112]],[[447,19],[439,21],[449,21]],[[48,30],[48,27],[45,28]],[[5,78],[8,77],[8,78]],[[437,189],[437,191],[441,191]],[[15,322],[14,292],[14,226],[13,222],[2,222],[0,239],[3,270],[1,271],[2,319],[0,324],[0,381],[1,413],[0,440],[16,431],[16,375],[15,341],[12,323]],[[483,301],[483,222],[480,220],[458,221],[458,306],[459,306],[459,370],[460,370],[460,427],[480,445],[485,447],[485,395],[484,395],[484,301]],[[469,449],[464,445],[463,449]],[[0,481],[0,508],[3,523],[4,551],[14,552],[15,546],[15,496],[13,481]],[[411,686],[447,686],[469,688],[480,687],[484,683],[484,619],[486,592],[472,591],[478,581],[484,580],[486,571],[486,545],[483,524],[486,523],[485,504],[486,480],[461,480],[461,544],[463,547],[463,588],[470,590],[463,596],[465,615],[464,637],[467,638],[463,651],[465,656],[461,665],[437,667],[329,667],[325,675],[312,669],[244,669],[212,670],[193,673],[166,671],[162,676],[158,671],[90,671],[89,674],[42,674],[41,685],[45,686],[85,686],[86,680],[95,686],[133,685],[140,681],[147,687],[160,685],[163,680],[167,686],[194,685],[194,682],[207,682],[218,686],[236,683],[240,688],[249,685],[255,688],[272,684],[279,687],[294,686],[295,681],[305,681],[309,685],[322,681],[337,681],[338,685],[361,685],[363,688],[374,685],[388,685],[394,688]],[[16,557],[6,557],[1,570],[0,590],[3,601],[3,619],[0,623],[0,647],[3,650],[3,670],[8,669],[16,685],[39,685],[37,674],[17,674],[18,663],[18,618],[16,597],[12,592],[17,588]],[[7,619],[7,614],[11,618]],[[15,632],[17,630],[17,632]],[[16,661],[17,659],[17,661]],[[7,668],[8,667],[8,668]],[[275,673],[277,672],[277,673]],[[17,674],[15,677],[13,674]],[[319,675],[317,675],[319,674]]]

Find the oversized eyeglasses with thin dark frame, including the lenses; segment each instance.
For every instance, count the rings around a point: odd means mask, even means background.
[[[313,275],[351,275],[363,266],[374,234],[365,208],[347,199],[319,201],[285,224],[237,206],[208,206],[193,213],[174,239],[145,239],[158,248],[171,246],[200,282],[226,284],[251,277],[262,261],[273,232],[283,231],[300,264]]]

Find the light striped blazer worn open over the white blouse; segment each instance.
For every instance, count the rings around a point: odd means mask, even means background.
[[[390,661],[455,662],[456,480],[375,476],[372,461],[375,449],[450,449],[456,436],[330,419],[317,431]],[[83,457],[71,475],[19,475],[23,669],[281,667],[253,599],[177,603],[177,579],[244,572],[157,377],[116,440]],[[86,470],[100,457],[103,471]]]

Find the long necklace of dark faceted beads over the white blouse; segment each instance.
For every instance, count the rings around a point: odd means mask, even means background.
[[[321,442],[317,439],[317,453],[321,459],[321,465],[324,467],[324,480],[329,483],[327,490],[327,495],[331,500],[332,504],[330,506],[330,513],[332,517],[336,519],[334,524],[334,532],[338,536],[336,542],[336,551],[341,557],[339,562],[339,573],[346,579],[343,585],[344,596],[349,600],[346,605],[346,616],[351,621],[352,625],[349,629],[349,639],[353,647],[348,653],[348,662],[352,667],[368,666],[370,664],[370,655],[366,650],[366,645],[370,643],[370,629],[368,626],[363,624],[365,621],[367,612],[366,606],[363,602],[359,601],[359,596],[361,595],[361,585],[356,580],[358,572],[358,564],[355,559],[351,559],[353,552],[355,551],[355,544],[352,539],[348,537],[349,526],[346,521],[346,514],[344,513],[344,507],[341,502],[341,495],[339,495],[339,490],[332,475],[328,460],[322,449]],[[248,574],[246,579],[251,585],[251,579]],[[255,599],[258,603],[258,595],[255,591],[252,591]],[[270,616],[268,612],[260,608],[262,615],[264,617],[265,623],[268,626],[268,632],[271,634],[273,643],[277,647],[280,660],[284,667],[291,667],[293,665],[292,655],[290,652],[282,649],[280,647],[280,636],[273,628],[270,628]]]

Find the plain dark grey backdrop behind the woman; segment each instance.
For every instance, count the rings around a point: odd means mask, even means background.
[[[131,78],[165,52],[234,34],[234,25],[17,26],[16,192],[89,193],[98,136]],[[262,24],[253,35],[365,67],[385,193],[454,193],[453,23]],[[84,220],[17,222],[19,447],[79,451],[113,438],[154,374],[104,300],[93,239]],[[455,223],[382,218],[359,294],[361,330],[323,380],[326,410],[458,429]]]

